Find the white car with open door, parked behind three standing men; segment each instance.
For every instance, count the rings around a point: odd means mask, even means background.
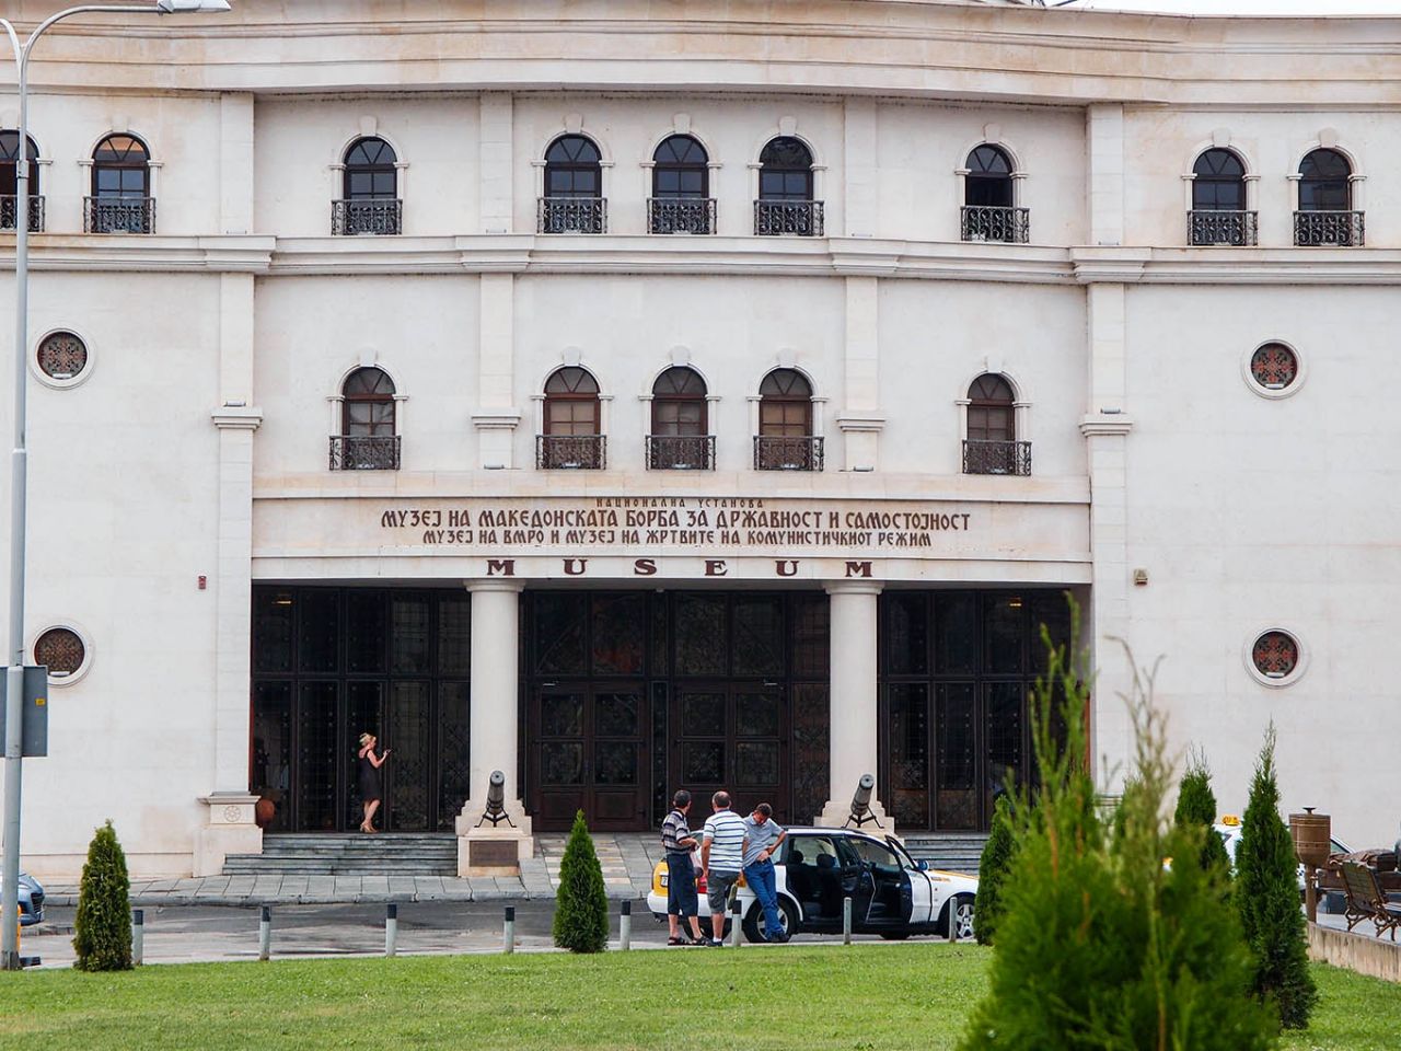
[[[696,874],[700,859],[695,858]],[[852,900],[852,930],[885,939],[947,935],[948,911],[960,939],[972,937],[972,904],[978,879],[936,872],[916,862],[892,837],[877,839],[845,828],[789,828],[773,858],[779,911],[789,935],[842,929],[842,900]],[[740,883],[744,935],[762,942],[764,911],[754,891]],[[667,862],[653,870],[647,908],[667,916]],[[699,893],[700,916],[710,915]]]

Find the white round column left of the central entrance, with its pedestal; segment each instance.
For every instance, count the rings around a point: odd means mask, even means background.
[[[469,580],[472,594],[472,724],[468,786],[471,795],[457,818],[458,872],[509,867],[499,859],[472,859],[468,839],[514,841],[517,858],[534,849],[531,823],[521,804],[516,776],[520,755],[517,695],[520,689],[520,598],[516,580]],[[492,771],[506,775],[510,823],[482,824]],[[493,856],[488,848],[483,856]]]

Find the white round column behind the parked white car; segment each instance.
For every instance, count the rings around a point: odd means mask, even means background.
[[[869,580],[827,586],[831,596],[832,685],[829,792],[818,824],[841,825],[852,809],[852,795],[863,774],[877,768],[877,649],[876,624],[881,586]],[[877,799],[871,813],[887,832],[894,824]]]

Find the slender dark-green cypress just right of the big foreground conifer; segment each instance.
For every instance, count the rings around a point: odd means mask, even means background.
[[[1254,991],[1286,1029],[1303,1029],[1318,999],[1309,974],[1309,935],[1289,827],[1279,817],[1275,724],[1265,731],[1236,845],[1236,907],[1254,954]]]

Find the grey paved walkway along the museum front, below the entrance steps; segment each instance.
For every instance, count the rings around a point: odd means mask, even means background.
[[[521,863],[518,879],[455,876],[206,876],[132,880],[133,905],[329,904],[357,901],[504,901],[553,898],[565,835],[537,835],[535,856]],[[594,849],[609,898],[642,898],[661,860],[654,834],[595,835]],[[77,904],[76,884],[49,883],[53,905]]]

